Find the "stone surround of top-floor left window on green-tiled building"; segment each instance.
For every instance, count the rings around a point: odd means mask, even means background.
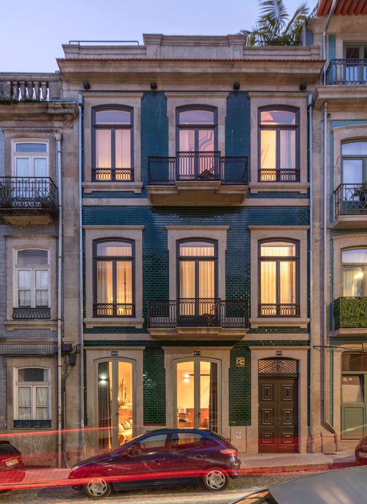
[[[134,192],[139,194],[142,191],[141,174],[141,100],[143,93],[100,93],[88,92],[84,95],[84,182],[82,186],[85,193],[92,192]],[[92,109],[100,106],[129,107],[134,115],[133,124],[133,159],[134,159],[134,181],[120,182],[92,182]]]

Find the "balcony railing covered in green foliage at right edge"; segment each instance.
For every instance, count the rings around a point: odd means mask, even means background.
[[[338,297],[334,301],[334,329],[367,327],[367,297]]]

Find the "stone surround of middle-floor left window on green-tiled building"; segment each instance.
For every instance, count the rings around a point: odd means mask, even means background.
[[[143,319],[143,230],[144,226],[83,226],[85,232],[86,327],[142,328]],[[135,317],[93,317],[93,241],[105,238],[135,242]]]

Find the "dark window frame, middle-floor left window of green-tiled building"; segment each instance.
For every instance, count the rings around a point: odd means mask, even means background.
[[[98,256],[97,255],[97,247],[101,243],[108,243],[108,242],[121,242],[121,243],[130,243],[132,246],[132,255],[131,256]],[[113,299],[113,302],[110,303],[113,305],[112,307],[112,314],[97,314],[96,311],[98,310],[98,304],[105,304],[105,303],[98,303],[97,301],[97,263],[101,261],[110,261],[112,262],[112,293],[113,296],[116,295],[116,289],[117,289],[117,277],[116,277],[116,263],[118,261],[124,261],[124,262],[131,262],[132,264],[132,313],[127,313],[127,314],[118,314],[117,307],[115,310],[115,305],[117,304],[126,304],[126,303],[117,303],[116,299]],[[93,317],[118,317],[118,318],[129,318],[129,317],[135,317],[135,299],[136,299],[136,294],[135,294],[135,240],[132,239],[125,239],[125,238],[101,238],[101,239],[95,239],[93,240],[93,306],[96,306],[96,308],[93,307]],[[130,304],[130,303],[128,303]]]

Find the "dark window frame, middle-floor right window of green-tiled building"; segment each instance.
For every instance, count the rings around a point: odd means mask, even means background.
[[[289,243],[295,245],[295,255],[294,256],[262,256],[261,255],[261,246],[266,244],[266,243],[276,243],[282,241],[284,243]],[[262,263],[267,263],[267,262],[275,262],[276,263],[276,270],[275,270],[275,285],[276,285],[276,301],[275,303],[270,303],[270,304],[275,304],[275,313],[274,314],[261,314],[261,306],[263,304],[267,303],[262,303],[261,302],[261,284],[262,284],[262,276],[261,276],[261,265]],[[280,302],[280,284],[281,284],[281,278],[280,278],[280,263],[283,262],[288,262],[288,263],[294,263],[295,268],[294,268],[294,283],[295,283],[295,297],[296,297],[296,302],[295,303],[281,303]],[[299,240],[289,240],[289,239],[282,239],[282,238],[272,238],[272,239],[263,239],[259,240],[258,242],[258,317],[299,317]],[[295,313],[290,313],[290,314],[284,314],[281,313],[282,310],[282,305],[283,304],[294,304],[298,305],[295,306],[293,309],[297,312],[298,314]]]

